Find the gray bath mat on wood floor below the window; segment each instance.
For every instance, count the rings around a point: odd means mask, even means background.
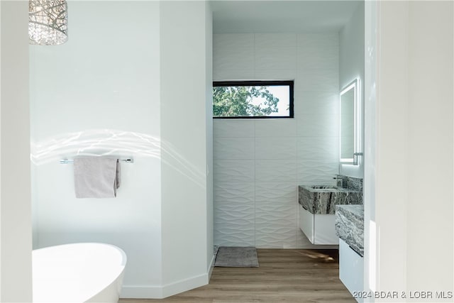
[[[214,266],[224,268],[258,268],[255,247],[220,247]]]

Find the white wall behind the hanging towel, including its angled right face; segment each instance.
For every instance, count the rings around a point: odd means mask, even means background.
[[[68,42],[31,47],[35,246],[123,248],[122,297],[205,285],[213,260],[211,11],[204,1],[68,6]],[[59,160],[87,154],[134,158],[121,165],[115,199],[75,199],[72,165]]]

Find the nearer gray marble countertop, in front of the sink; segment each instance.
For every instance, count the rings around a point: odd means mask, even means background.
[[[364,205],[336,205],[336,234],[364,256]]]

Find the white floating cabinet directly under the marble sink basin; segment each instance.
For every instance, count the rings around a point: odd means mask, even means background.
[[[312,244],[338,245],[334,214],[311,214],[300,204],[299,228]]]

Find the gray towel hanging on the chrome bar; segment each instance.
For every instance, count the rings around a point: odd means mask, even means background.
[[[114,198],[120,187],[120,164],[116,158],[74,158],[76,198]]]

